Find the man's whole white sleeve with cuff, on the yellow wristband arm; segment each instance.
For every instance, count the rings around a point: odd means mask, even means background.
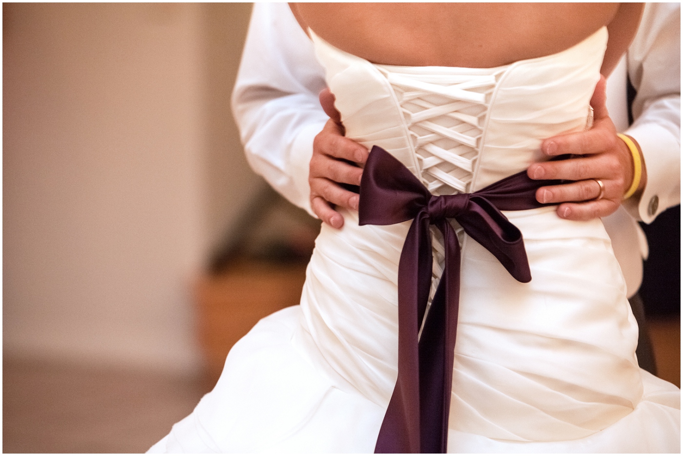
[[[641,146],[647,185],[624,206],[650,223],[680,204],[680,3],[647,3],[627,63],[637,95],[625,133]]]

